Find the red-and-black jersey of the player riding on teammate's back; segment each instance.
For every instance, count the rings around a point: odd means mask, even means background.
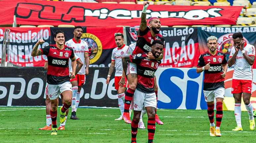
[[[152,42],[157,39],[161,40],[165,44],[163,36],[161,34],[156,34],[156,36],[153,37],[150,33],[149,27],[147,27],[144,31],[140,30],[136,47],[132,54],[148,53],[151,50]]]

